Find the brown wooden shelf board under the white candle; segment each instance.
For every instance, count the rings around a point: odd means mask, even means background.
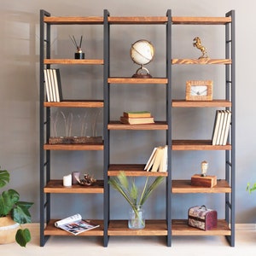
[[[61,179],[50,180],[49,183],[44,187],[44,193],[90,193],[90,194],[103,194],[103,181],[97,180],[90,186],[80,186],[79,184],[72,185],[72,187],[67,188],[63,186],[63,181]]]

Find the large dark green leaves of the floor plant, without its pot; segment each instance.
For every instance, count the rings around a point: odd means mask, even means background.
[[[0,188],[9,183],[9,172],[0,170]],[[15,189],[3,191],[0,195],[0,218],[9,215],[16,223],[31,223],[31,215],[29,208],[32,207],[31,202],[20,201],[20,195]],[[15,240],[21,247],[26,247],[26,243],[31,240],[30,231],[22,229],[17,230]]]

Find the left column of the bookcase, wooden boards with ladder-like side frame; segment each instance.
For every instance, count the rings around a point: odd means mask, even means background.
[[[44,68],[50,68],[52,65],[99,65],[103,66],[102,59],[52,59],[50,56],[50,35],[51,26],[55,25],[102,25],[102,17],[53,17],[44,10],[40,11],[40,246],[44,246],[49,236],[70,236],[64,230],[55,228],[56,219],[51,219],[51,195],[52,194],[104,194],[103,170],[102,180],[97,180],[90,187],[82,187],[73,185],[66,188],[62,185],[62,180],[51,179],[51,151],[103,151],[104,143],[88,143],[88,144],[49,144],[50,137],[50,113],[51,108],[104,108],[102,100],[63,100],[61,102],[47,102],[44,89]],[[103,36],[103,35],[102,35]],[[102,79],[103,80],[103,79]],[[102,163],[103,165],[103,163]],[[63,195],[64,196],[64,195]],[[102,209],[104,209],[102,205]],[[62,216],[62,218],[65,218]],[[66,216],[67,217],[67,216]],[[104,220],[94,220],[100,224],[99,228],[81,233],[79,236],[104,236]]]

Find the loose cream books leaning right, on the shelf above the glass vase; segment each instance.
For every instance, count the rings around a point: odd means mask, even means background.
[[[167,145],[154,148],[144,170],[147,172],[167,172],[167,151]]]

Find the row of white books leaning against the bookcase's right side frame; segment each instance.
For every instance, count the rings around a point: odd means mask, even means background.
[[[226,145],[230,131],[230,110],[216,110],[212,131],[212,145]]]

